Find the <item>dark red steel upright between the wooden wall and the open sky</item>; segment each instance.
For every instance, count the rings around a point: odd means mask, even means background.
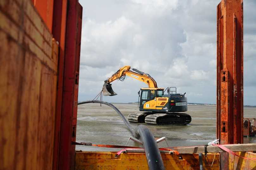
[[[59,169],[74,169],[78,79],[82,29],[82,6],[67,1],[66,40],[63,73],[63,98],[60,129]]]

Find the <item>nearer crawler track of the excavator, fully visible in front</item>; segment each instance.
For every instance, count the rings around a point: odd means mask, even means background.
[[[158,113],[145,118],[145,123],[152,125],[187,125],[190,122],[191,116],[185,113]]]

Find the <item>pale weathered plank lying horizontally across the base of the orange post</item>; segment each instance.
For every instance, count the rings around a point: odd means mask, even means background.
[[[256,144],[228,144],[223,145],[226,148],[232,151],[256,151]],[[180,154],[192,154],[192,153],[204,153],[204,146],[197,146],[197,147],[184,147],[184,148],[172,148],[173,150],[178,151]],[[207,151],[214,153],[214,152],[225,152],[220,149],[218,146],[207,146]]]

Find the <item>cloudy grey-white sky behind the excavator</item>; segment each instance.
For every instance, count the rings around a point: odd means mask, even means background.
[[[220,0],[79,0],[83,6],[78,101],[129,65],[189,103],[216,103],[216,6]],[[244,0],[244,104],[256,105],[256,1]],[[107,102],[136,102],[147,87],[126,76]]]

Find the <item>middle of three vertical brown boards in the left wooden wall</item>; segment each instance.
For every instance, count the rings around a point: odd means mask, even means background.
[[[16,166],[17,169],[33,169],[36,163],[37,147],[28,147],[35,144],[37,138],[38,129],[36,126],[36,120],[38,117],[39,108],[39,89],[40,89],[40,70],[41,62],[33,54],[28,51],[22,56],[24,61],[24,67],[21,71],[22,77],[20,82],[19,93],[20,97],[20,119],[16,124],[19,126],[16,138]],[[24,159],[25,158],[25,159]],[[32,165],[32,167],[31,167]],[[29,168],[30,167],[30,168]]]

